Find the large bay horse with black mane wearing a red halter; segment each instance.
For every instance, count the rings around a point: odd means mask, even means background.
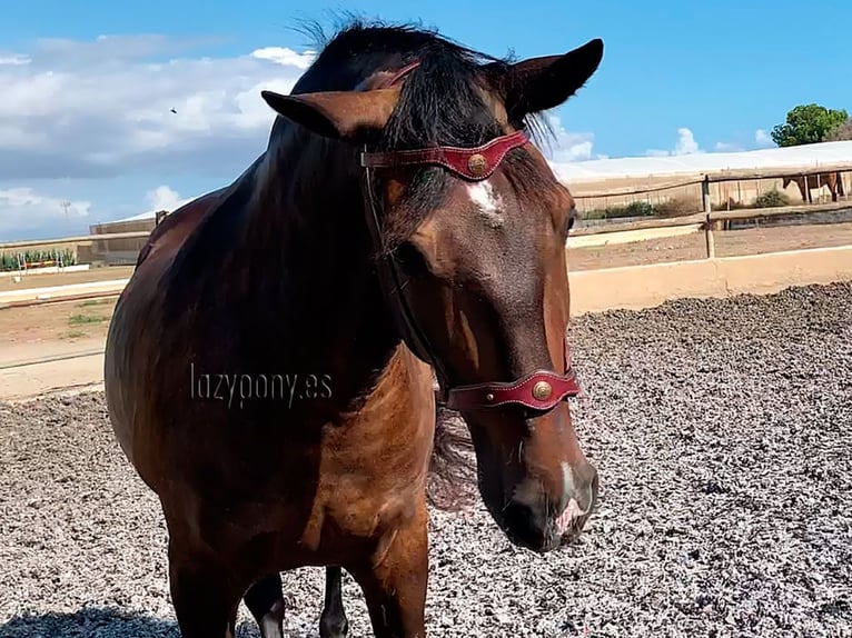
[[[375,636],[425,636],[430,486],[464,458],[433,370],[509,541],[582,530],[598,478],[567,402],[575,206],[531,130],[602,58],[600,39],[512,61],[355,21],[289,96],[261,91],[256,161],[152,231],[105,387],[161,505],[185,638],[232,637],[241,599],[281,637],[279,574],[304,566],[346,569]],[[346,632],[328,594],[324,638]]]

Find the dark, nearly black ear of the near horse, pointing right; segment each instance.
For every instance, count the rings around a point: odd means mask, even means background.
[[[558,107],[577,92],[597,70],[604,57],[604,41],[590,40],[563,56],[531,58],[505,66],[495,77],[495,88],[503,93],[506,111],[513,119]],[[486,71],[486,72],[488,72]]]

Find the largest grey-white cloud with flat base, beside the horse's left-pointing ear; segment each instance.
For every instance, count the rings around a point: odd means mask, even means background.
[[[0,175],[238,175],[265,148],[274,120],[260,91],[289,92],[314,53],[267,47],[162,60],[186,47],[122,36],[0,52]]]

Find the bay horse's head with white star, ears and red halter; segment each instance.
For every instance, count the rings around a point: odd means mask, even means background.
[[[469,429],[479,494],[518,546],[548,551],[597,498],[566,398],[568,189],[527,130],[592,77],[603,42],[519,62],[428,49],[354,91],[264,92],[348,142],[378,277],[402,338]]]

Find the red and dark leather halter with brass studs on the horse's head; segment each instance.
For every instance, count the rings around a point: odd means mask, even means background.
[[[379,88],[388,88],[405,78],[417,68],[414,61],[394,73]],[[438,376],[440,388],[446,392],[446,406],[454,410],[473,410],[505,405],[518,405],[532,410],[548,411],[568,397],[579,393],[576,373],[571,365],[567,340],[564,343],[564,373],[553,370],[536,370],[526,377],[508,382],[486,382],[470,386],[459,386],[446,390],[449,377],[425,332],[414,318],[404,288],[407,281],[400,272],[399,265],[392,252],[385,249],[377,200],[373,191],[371,170],[398,166],[433,165],[444,167],[457,176],[472,181],[481,181],[491,177],[506,154],[527,143],[523,131],[497,137],[489,142],[474,148],[432,147],[405,151],[369,152],[365,144],[360,163],[365,169],[367,226],[374,243],[379,247],[379,279],[382,289],[388,300],[394,321],[408,348],[423,361],[432,365]]]

